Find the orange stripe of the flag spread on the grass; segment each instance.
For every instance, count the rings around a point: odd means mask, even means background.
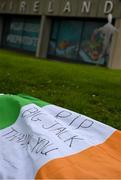
[[[105,143],[44,165],[36,179],[121,179],[121,131]]]

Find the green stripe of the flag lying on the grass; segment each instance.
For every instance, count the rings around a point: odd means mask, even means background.
[[[40,107],[48,105],[48,103],[44,101],[26,95],[0,96],[0,129],[4,129],[15,123],[20,109],[31,103]]]

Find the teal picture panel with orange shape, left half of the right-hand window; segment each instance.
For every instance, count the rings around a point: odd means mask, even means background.
[[[82,23],[80,22],[62,21],[60,25],[55,23],[53,32],[56,32],[57,35],[55,40],[51,38],[49,54],[68,59],[77,59],[81,29]]]

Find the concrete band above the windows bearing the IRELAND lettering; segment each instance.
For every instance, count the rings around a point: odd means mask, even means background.
[[[118,18],[120,6],[119,0],[0,0],[0,13],[71,17],[104,17],[113,13]]]

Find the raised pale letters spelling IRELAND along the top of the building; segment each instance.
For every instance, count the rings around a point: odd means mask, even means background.
[[[1,11],[4,10],[5,13],[9,12],[9,11],[15,13],[14,10],[16,10],[15,8],[17,8],[17,5],[18,5],[18,3],[16,3],[16,2],[17,2],[17,0],[16,1],[9,0],[8,3],[6,1],[0,0],[0,9],[1,9]],[[39,13],[40,12],[39,11],[39,8],[40,8],[40,5],[41,5],[40,0],[31,0],[31,2],[26,1],[26,0],[20,0],[20,3],[19,3],[19,12],[20,13],[26,13],[28,3],[30,3],[30,6],[31,6],[30,11],[32,10],[33,13]],[[48,13],[54,13],[56,8],[58,8],[58,7],[56,7],[55,3],[56,3],[56,1],[54,1],[54,0],[49,0],[48,1],[48,6],[47,6]],[[105,0],[104,1],[103,13],[104,14],[112,13],[112,11],[114,10],[114,5],[115,4],[114,4],[113,0]],[[82,1],[80,1],[80,5],[81,5],[81,13],[82,14],[83,13],[89,14],[90,11],[91,11],[91,7],[93,5],[93,1],[91,1],[91,0],[82,0]],[[117,6],[118,5],[120,6],[120,3],[117,3]],[[77,6],[79,6],[79,4],[77,4]],[[43,8],[44,8],[44,5],[43,5]],[[72,9],[73,9],[73,6],[71,4],[71,1],[66,0],[64,6],[62,7],[62,12],[63,13],[71,13]],[[58,12],[58,15],[59,15],[59,12]]]

